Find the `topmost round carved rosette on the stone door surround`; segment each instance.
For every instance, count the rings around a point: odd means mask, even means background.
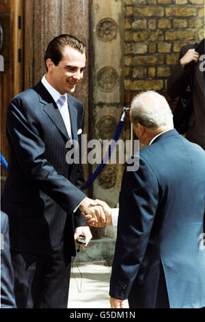
[[[112,41],[117,37],[118,24],[111,18],[104,18],[98,22],[96,33],[100,40]]]

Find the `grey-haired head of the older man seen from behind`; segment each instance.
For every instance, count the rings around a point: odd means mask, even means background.
[[[130,116],[135,134],[144,145],[157,134],[174,128],[173,114],[165,97],[152,90],[133,99]]]

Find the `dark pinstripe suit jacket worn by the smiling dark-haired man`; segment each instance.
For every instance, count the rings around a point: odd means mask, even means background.
[[[72,139],[83,129],[83,104],[68,95]],[[6,131],[9,158],[2,209],[10,219],[12,249],[49,254],[64,234],[68,254],[75,254],[73,225],[87,225],[74,208],[85,197],[81,164],[66,162],[69,140],[53,98],[39,82],[14,97]],[[74,216],[74,223],[73,217]]]

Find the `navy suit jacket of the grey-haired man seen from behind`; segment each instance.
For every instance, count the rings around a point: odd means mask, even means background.
[[[205,151],[176,129],[139,151],[122,179],[111,297],[155,308],[163,267],[170,308],[205,306],[204,178]]]

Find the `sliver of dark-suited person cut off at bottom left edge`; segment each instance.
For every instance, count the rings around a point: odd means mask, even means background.
[[[1,211],[1,308],[16,308],[8,216]]]

